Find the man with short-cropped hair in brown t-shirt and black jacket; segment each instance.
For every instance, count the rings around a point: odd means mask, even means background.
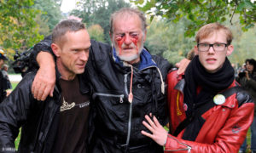
[[[15,151],[21,127],[20,153],[84,153],[87,150],[89,90],[84,67],[90,37],[83,23],[63,20],[53,30],[51,48],[56,57],[53,97],[34,99],[31,88],[35,71],[26,74],[0,104],[0,152]],[[83,85],[81,85],[83,84]]]

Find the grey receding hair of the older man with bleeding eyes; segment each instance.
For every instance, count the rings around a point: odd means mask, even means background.
[[[110,34],[113,34],[113,20],[116,19],[116,17],[118,17],[119,15],[134,15],[137,14],[137,16],[139,17],[139,19],[142,21],[142,27],[143,27],[143,31],[147,30],[147,22],[146,22],[146,17],[144,16],[143,12],[138,10],[137,8],[121,8],[118,11],[114,12],[113,14],[111,14],[110,17]]]

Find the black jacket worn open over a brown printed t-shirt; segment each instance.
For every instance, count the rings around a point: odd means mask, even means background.
[[[15,152],[15,139],[21,129],[18,152],[49,153],[55,139],[61,89],[58,79],[54,96],[44,101],[34,99],[31,92],[36,72],[28,73],[15,90],[0,104],[0,152]],[[57,78],[61,76],[56,75]],[[79,77],[79,82],[81,82]],[[82,94],[89,92],[80,85]]]

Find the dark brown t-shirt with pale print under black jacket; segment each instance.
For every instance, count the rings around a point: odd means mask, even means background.
[[[61,108],[53,153],[84,153],[90,100],[79,91],[79,79],[60,80]]]

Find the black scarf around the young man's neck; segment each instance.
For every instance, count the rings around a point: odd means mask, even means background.
[[[229,59],[225,59],[224,65],[215,73],[209,73],[201,65],[198,56],[190,62],[185,71],[184,103],[188,105],[187,117],[194,117],[196,109],[207,102],[212,102],[213,97],[228,88],[234,81],[234,69]],[[201,92],[196,94],[196,89],[201,87]],[[183,139],[195,140],[203,123],[201,116],[193,118],[183,134]]]

